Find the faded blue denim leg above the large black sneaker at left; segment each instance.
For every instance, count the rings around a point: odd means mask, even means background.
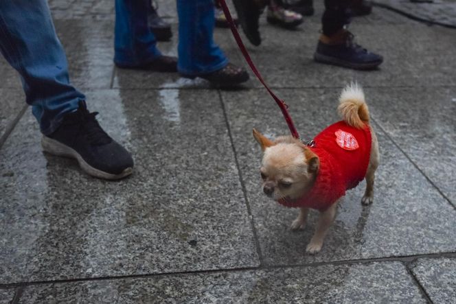
[[[0,50],[19,71],[41,132],[54,132],[85,97],[69,84],[67,58],[46,0],[0,1]]]

